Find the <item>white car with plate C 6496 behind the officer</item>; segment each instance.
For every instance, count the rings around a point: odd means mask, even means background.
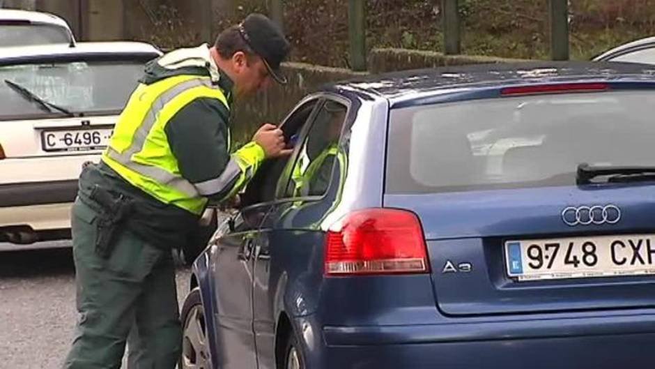
[[[161,55],[146,43],[0,48],[0,242],[70,238],[82,165]]]

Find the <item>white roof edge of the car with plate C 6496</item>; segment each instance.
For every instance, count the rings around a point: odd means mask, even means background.
[[[75,56],[160,56],[162,52],[148,43],[107,41],[100,43],[31,45],[3,47],[0,63],[25,62],[45,58],[58,59]]]

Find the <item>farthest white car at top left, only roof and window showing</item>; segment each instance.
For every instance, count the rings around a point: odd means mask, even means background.
[[[0,9],[0,47],[52,43],[75,45],[65,20],[49,13]]]

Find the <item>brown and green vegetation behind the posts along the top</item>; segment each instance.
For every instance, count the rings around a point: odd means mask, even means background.
[[[231,17],[216,15],[220,27],[257,11],[266,0],[233,0]],[[496,57],[548,59],[548,0],[459,0],[463,52]],[[175,1],[160,1],[151,18],[169,36],[164,47],[188,44],[187,24],[171,22]],[[284,27],[292,60],[348,67],[348,0],[285,0]],[[655,35],[655,0],[570,0],[571,57],[589,59],[630,40]],[[368,47],[442,50],[440,0],[368,0]],[[172,13],[171,13],[172,12]],[[159,16],[157,16],[159,14]],[[159,20],[159,21],[157,21]],[[217,27],[219,29],[220,27]]]

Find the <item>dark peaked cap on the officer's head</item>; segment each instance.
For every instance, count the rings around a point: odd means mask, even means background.
[[[252,13],[239,24],[239,33],[252,51],[261,57],[273,79],[279,84],[286,84],[286,77],[279,66],[291,45],[277,24],[263,14]]]

